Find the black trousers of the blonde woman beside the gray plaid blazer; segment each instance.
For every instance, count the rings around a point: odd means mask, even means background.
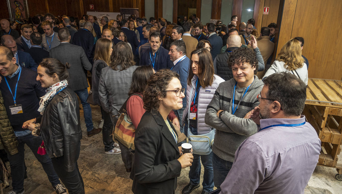
[[[113,123],[111,123],[110,120],[110,114],[107,113],[103,108],[101,108],[101,114],[103,119],[103,127],[102,127],[102,141],[105,145],[105,152],[108,152],[110,150],[113,150],[114,148],[114,141],[113,136],[111,135],[113,133]]]

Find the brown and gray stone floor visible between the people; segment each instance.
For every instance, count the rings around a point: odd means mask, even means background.
[[[92,106],[93,121],[98,124],[101,113],[98,106]],[[102,134],[87,137],[84,124],[83,111],[81,113],[81,127],[83,139],[81,140],[81,153],[78,159],[79,169],[84,181],[86,194],[131,194],[132,180],[126,172],[121,155],[104,154]],[[37,161],[31,150],[26,147],[25,161],[27,165],[28,178],[25,179],[25,194],[54,194],[54,190],[43,171],[41,164]],[[342,158],[342,154],[339,158]],[[9,163],[6,163],[9,167]],[[201,175],[203,176],[203,167]],[[9,169],[10,171],[10,169]],[[178,178],[176,193],[180,194],[183,187],[188,183],[189,168],[182,169]],[[341,194],[342,181],[335,178],[336,169],[317,166],[308,185],[305,194]],[[203,177],[201,177],[201,181]],[[10,187],[4,189],[7,194],[12,190],[12,179]],[[202,186],[194,190],[193,194],[200,194]]]

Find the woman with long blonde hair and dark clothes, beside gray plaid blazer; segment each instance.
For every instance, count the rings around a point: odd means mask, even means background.
[[[93,101],[100,106],[103,127],[102,127],[102,140],[105,146],[105,154],[120,154],[121,150],[119,145],[114,141],[111,136],[113,124],[110,120],[110,114],[108,114],[102,107],[100,99],[98,98],[98,80],[100,80],[100,75],[102,69],[108,67],[110,64],[110,55],[113,52],[113,43],[105,38],[100,38],[96,42],[95,53],[94,53],[94,65],[92,70],[92,92]]]

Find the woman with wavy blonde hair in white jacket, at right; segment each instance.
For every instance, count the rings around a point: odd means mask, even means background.
[[[303,61],[300,42],[296,39],[291,39],[281,48],[276,60],[262,79],[273,73],[290,72],[307,85],[307,67]]]

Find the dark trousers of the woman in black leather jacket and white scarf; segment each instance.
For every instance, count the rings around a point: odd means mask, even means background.
[[[51,158],[53,167],[65,185],[65,188],[68,189],[69,194],[84,194],[84,183],[77,165],[77,160],[80,156],[80,146],[81,141],[75,148],[75,168],[71,172],[64,170],[64,156]]]

